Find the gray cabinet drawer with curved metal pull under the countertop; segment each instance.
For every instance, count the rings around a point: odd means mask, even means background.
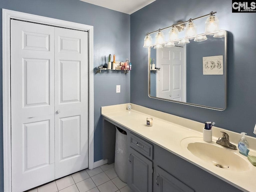
[[[150,160],[153,159],[153,146],[131,133],[130,146]]]

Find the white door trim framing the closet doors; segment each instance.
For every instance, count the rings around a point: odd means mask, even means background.
[[[88,31],[88,92],[89,92],[89,132],[88,166],[94,168],[94,89],[93,89],[93,26],[58,20],[33,14],[2,9],[2,75],[3,75],[3,148],[4,148],[4,192],[12,191],[11,168],[11,100],[10,100],[10,20],[18,19],[40,24]]]

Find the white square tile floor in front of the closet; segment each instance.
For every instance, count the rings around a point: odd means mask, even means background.
[[[132,192],[122,182],[114,164],[85,169],[26,192]]]

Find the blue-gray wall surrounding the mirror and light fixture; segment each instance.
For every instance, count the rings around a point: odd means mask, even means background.
[[[156,100],[148,97],[148,50],[143,48],[147,32],[217,11],[220,28],[228,33],[228,107],[216,111]],[[214,121],[216,126],[254,136],[256,123],[256,22],[255,13],[232,13],[232,0],[156,0],[131,15],[131,102],[199,122]],[[205,19],[197,20],[198,33],[204,32]],[[200,24],[201,23],[201,24]],[[242,30],[241,30],[242,28]],[[167,30],[168,34],[168,30]],[[168,35],[166,34],[166,38]],[[153,38],[153,37],[152,37]]]

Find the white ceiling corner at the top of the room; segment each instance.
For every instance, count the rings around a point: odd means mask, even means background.
[[[155,0],[80,0],[126,14],[132,14]]]

